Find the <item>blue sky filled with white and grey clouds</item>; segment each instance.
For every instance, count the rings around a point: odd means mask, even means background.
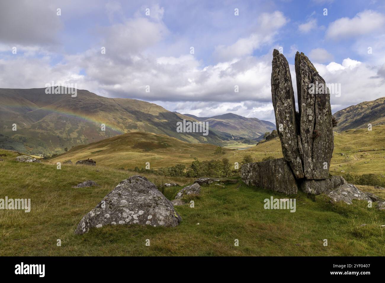
[[[0,0],[3,88],[54,80],[181,113],[275,122],[271,59],[280,47],[293,78],[298,50],[341,84],[333,112],[385,96],[384,1]]]

